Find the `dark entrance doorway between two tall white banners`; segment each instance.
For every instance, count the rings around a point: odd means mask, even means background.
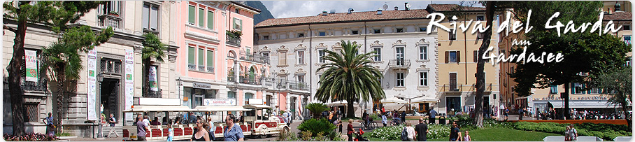
[[[119,79],[104,78],[101,82],[101,104],[104,105],[104,115],[106,118],[110,117],[110,113],[115,115],[115,118],[119,118]]]

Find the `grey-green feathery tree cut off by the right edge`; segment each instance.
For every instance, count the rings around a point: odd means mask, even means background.
[[[633,102],[633,74],[632,66],[620,66],[608,71],[601,71],[597,74],[592,81],[595,87],[604,90],[604,93],[608,93],[611,97],[608,102],[615,106],[620,105],[622,112],[628,112],[629,102]],[[628,122],[631,122],[631,118],[626,117]],[[631,127],[631,124],[628,123]]]

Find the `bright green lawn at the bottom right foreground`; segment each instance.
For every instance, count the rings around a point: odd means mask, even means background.
[[[559,134],[544,132],[527,132],[516,129],[487,128],[476,129],[470,132],[472,141],[543,141],[545,136],[562,136]],[[464,131],[461,132],[465,135]],[[448,141],[448,136],[440,139],[428,139],[428,141]]]

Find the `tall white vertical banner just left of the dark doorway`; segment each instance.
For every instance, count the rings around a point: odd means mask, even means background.
[[[88,51],[88,120],[97,120],[95,102],[97,101],[97,50]]]

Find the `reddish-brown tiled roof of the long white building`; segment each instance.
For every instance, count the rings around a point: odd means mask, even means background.
[[[377,15],[377,11],[353,12],[353,13],[334,13],[327,15],[315,15],[306,17],[287,17],[264,20],[255,25],[258,27],[280,27],[299,24],[319,24],[319,23],[336,23],[336,22],[362,22],[362,21],[380,21],[380,20],[409,20],[409,19],[426,19],[428,11],[424,9],[416,10],[384,10],[382,15]]]

